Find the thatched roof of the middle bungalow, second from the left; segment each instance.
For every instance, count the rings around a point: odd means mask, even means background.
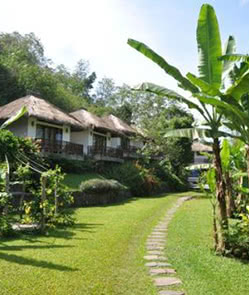
[[[93,127],[95,129],[105,130],[112,133],[117,133],[115,126],[111,122],[107,122],[103,118],[96,116],[84,109],[70,113],[85,127]]]

